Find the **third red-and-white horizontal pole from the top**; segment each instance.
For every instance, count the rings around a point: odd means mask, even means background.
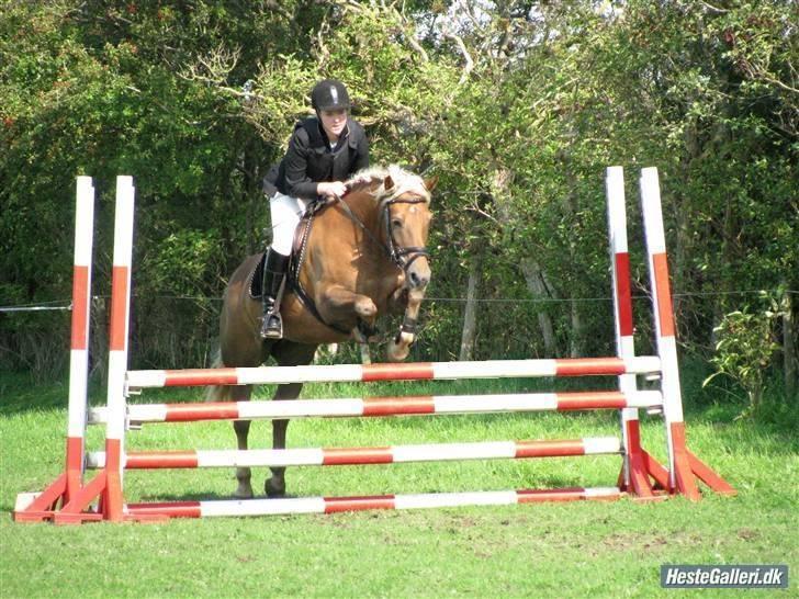
[[[554,441],[494,441],[476,443],[429,443],[386,448],[336,448],[290,450],[210,450],[128,452],[127,470],[213,468],[240,466],[353,466],[403,462],[447,462],[453,460],[500,460],[559,457],[621,453],[615,437],[587,437]],[[105,452],[87,455],[88,468],[105,466]]]

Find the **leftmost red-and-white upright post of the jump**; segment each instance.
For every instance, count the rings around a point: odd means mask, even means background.
[[[94,188],[91,177],[78,177],[75,202],[75,260],[72,265],[72,321],[69,351],[69,408],[67,417],[67,504],[83,484],[83,447],[89,375],[91,257],[94,234]]]

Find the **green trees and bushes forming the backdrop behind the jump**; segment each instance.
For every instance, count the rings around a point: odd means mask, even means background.
[[[110,248],[113,177],[131,173],[135,360],[199,365],[226,276],[268,239],[260,180],[320,77],[347,82],[375,162],[440,178],[440,301],[415,359],[457,353],[477,260],[475,358],[612,351],[609,302],[585,301],[610,286],[609,165],[628,171],[637,293],[634,178],[660,169],[679,337],[699,359],[721,315],[751,300],[739,292],[799,287],[795,3],[451,4],[4,1],[2,303],[69,296],[74,177],[95,178],[95,245]],[[66,324],[3,320],[4,355],[32,363],[30,348],[66,339]]]

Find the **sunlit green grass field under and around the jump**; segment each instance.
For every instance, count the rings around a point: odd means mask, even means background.
[[[541,384],[541,383],[538,383]],[[607,385],[607,382],[605,383]],[[529,381],[371,386],[369,395],[536,391]],[[539,388],[543,389],[544,386]],[[400,391],[402,389],[402,391]],[[269,397],[261,388],[259,398]],[[308,385],[303,397],[360,396]],[[688,395],[688,394],[686,394]],[[781,596],[799,596],[797,422],[733,421],[735,409],[686,406],[690,448],[739,496],[655,504],[630,499],[520,507],[371,511],[335,516],[172,520],[166,524],[15,524],[18,493],[42,490],[63,468],[66,385],[0,373],[0,597],[747,597],[774,591],[668,591],[662,564],[788,564]],[[95,385],[93,404],[103,404]],[[144,403],[199,400],[150,393]],[[615,412],[296,420],[289,447],[566,439],[617,433]],[[90,449],[101,449],[92,428]],[[254,423],[251,448],[271,425]],[[664,457],[662,421],[643,442]],[[233,449],[229,422],[149,425],[131,449]],[[618,456],[297,467],[292,496],[611,486]],[[256,468],[261,491],[267,468]],[[128,501],[227,498],[230,470],[130,472]]]

